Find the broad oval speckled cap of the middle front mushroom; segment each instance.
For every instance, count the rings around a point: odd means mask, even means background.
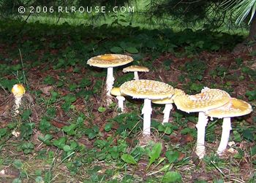
[[[120,86],[121,93],[133,98],[162,99],[173,96],[172,86],[154,80],[140,79],[124,82]]]

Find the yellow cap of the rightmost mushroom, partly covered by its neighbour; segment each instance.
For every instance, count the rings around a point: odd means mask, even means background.
[[[244,116],[252,112],[252,106],[245,101],[237,98],[231,98],[230,102],[217,109],[212,109],[206,112],[209,117],[238,117]]]

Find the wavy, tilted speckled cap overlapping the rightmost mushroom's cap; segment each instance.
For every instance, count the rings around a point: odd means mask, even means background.
[[[184,112],[206,112],[223,106],[230,101],[230,95],[219,89],[203,88],[194,96],[176,96],[173,98],[177,108]]]

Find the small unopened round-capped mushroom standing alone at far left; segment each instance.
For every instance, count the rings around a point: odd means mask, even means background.
[[[24,93],[26,92],[25,87],[21,84],[13,85],[12,87],[12,94],[15,97],[15,106],[14,106],[14,115],[16,116],[19,114],[19,108],[21,103],[21,98],[23,97]]]

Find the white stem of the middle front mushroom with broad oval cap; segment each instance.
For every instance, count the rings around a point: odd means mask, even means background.
[[[151,100],[148,98],[145,98],[142,114],[143,114],[143,135],[146,135],[146,136],[150,136],[151,112],[152,112]]]

